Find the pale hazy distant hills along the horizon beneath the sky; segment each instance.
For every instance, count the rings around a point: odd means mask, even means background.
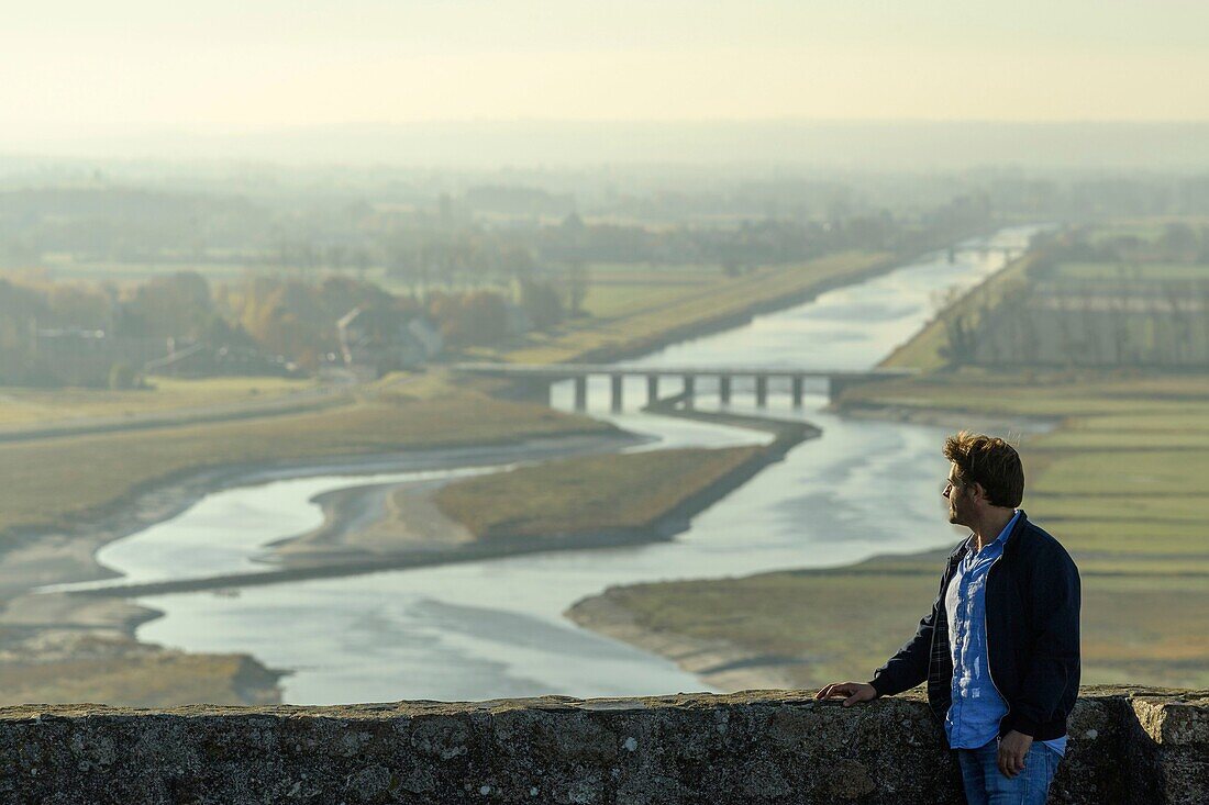
[[[5,141],[12,156],[441,168],[660,163],[944,170],[1209,170],[1204,122],[457,121]]]

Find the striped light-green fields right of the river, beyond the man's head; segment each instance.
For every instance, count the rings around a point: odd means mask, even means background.
[[[1053,418],[1017,439],[1030,516],[1101,573],[1209,574],[1209,375],[954,372],[856,387],[846,405]]]

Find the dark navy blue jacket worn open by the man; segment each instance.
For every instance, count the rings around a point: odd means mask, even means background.
[[[927,701],[942,722],[953,699],[944,592],[967,550],[962,540],[949,555],[932,612],[870,682],[879,696],[890,696],[926,681]],[[1062,737],[1078,695],[1080,579],[1075,562],[1022,511],[1003,556],[987,572],[985,595],[990,677],[1007,702],[1000,736],[1016,730],[1037,741]]]

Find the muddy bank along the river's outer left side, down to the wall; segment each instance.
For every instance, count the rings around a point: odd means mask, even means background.
[[[104,701],[186,703],[197,701],[197,691],[207,691],[210,696],[207,701],[215,703],[277,701],[276,679],[280,672],[248,655],[185,654],[139,643],[135,629],[158,616],[156,610],[123,598],[45,593],[35,589],[114,578],[96,560],[99,548],[167,521],[206,494],[224,488],[308,475],[501,464],[573,451],[617,450],[638,442],[634,436],[606,429],[520,445],[231,465],[192,473],[141,491],[126,505],[114,506],[87,525],[23,540],[0,555],[0,678],[6,681],[0,690],[5,701],[27,695],[39,701],[73,701],[79,700],[73,699],[73,691],[81,690],[79,685],[91,679],[92,693],[83,697]]]

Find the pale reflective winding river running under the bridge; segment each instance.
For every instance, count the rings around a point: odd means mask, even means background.
[[[863,370],[933,314],[953,288],[1001,268],[1005,247],[1034,230],[929,255],[805,305],[679,343],[626,365],[758,365]],[[1000,250],[987,250],[985,247]],[[632,448],[722,446],[767,434],[689,423],[626,410],[606,411],[601,386],[591,411],[652,439]],[[664,380],[667,392],[677,382]],[[735,387],[730,410],[756,412]],[[630,696],[708,689],[675,664],[579,629],[562,613],[609,585],[719,578],[763,571],[848,564],[874,554],[912,552],[953,539],[943,521],[943,432],[823,412],[823,389],[794,411],[773,386],[770,416],[822,428],[744,487],[698,515],[673,540],[611,550],[561,551],[370,575],[140,598],[163,616],[138,637],[190,651],[245,651],[273,668],[290,703],[478,700],[563,694]],[[569,384],[554,389],[571,407]],[[627,402],[646,399],[642,378]],[[698,407],[717,406],[699,381]],[[478,462],[479,464],[491,462]],[[503,458],[494,469],[507,465]],[[399,468],[406,469],[406,468]],[[306,532],[322,515],[311,499],[371,482],[441,479],[492,468],[444,467],[380,475],[320,475],[249,483],[210,494],[179,516],[106,545],[102,563],[129,579],[168,579],[262,569],[266,543]],[[316,470],[319,471],[319,470]]]

